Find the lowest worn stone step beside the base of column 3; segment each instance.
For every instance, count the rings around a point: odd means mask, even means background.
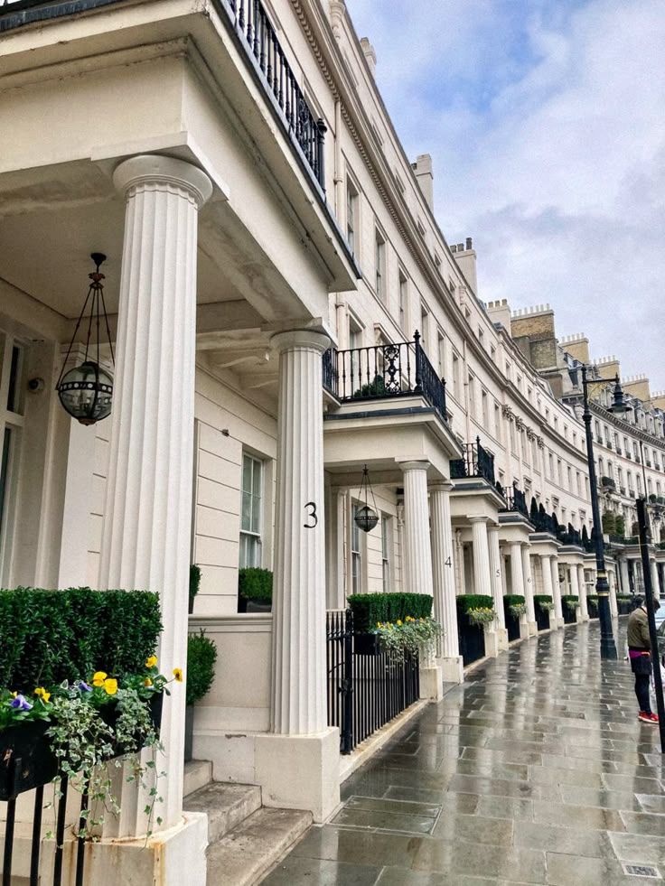
[[[255,886],[312,824],[309,812],[267,809],[208,848],[208,886]]]

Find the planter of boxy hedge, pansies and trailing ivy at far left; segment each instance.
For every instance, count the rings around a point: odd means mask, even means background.
[[[163,695],[183,679],[178,667],[169,679],[157,667],[157,595],[0,591],[0,623],[0,799],[72,776],[94,800],[79,832],[89,837],[101,823],[96,809],[118,810],[108,765],[128,758],[130,779],[156,775],[155,759],[144,764],[137,751],[155,758]],[[152,816],[158,792],[148,790]]]

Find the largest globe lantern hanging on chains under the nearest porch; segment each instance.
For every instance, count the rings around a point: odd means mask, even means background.
[[[93,260],[97,269],[89,274],[90,285],[88,295],[83,303],[83,309],[80,312],[79,321],[76,329],[71,337],[70,348],[67,351],[64,363],[62,364],[60,378],[55,389],[58,391],[60,402],[63,408],[73,418],[76,418],[80,424],[95,424],[106,418],[111,412],[111,401],[113,399],[113,376],[99,365],[99,322],[104,317],[106,326],[108,347],[111,350],[111,362],[115,365],[113,356],[113,345],[111,344],[111,333],[108,329],[108,317],[106,303],[104,302],[104,286],[101,281],[104,275],[99,272],[99,266],[106,261],[107,256],[103,256],[100,252],[93,252],[90,258]],[[89,306],[88,321],[88,337],[86,339],[85,357],[79,366],[65,372],[65,367],[70,359],[70,353],[74,347],[76,336],[83,321],[86,310]],[[95,323],[95,334],[92,335],[92,324]],[[93,341],[92,347],[95,349],[92,359],[90,352],[90,338]]]

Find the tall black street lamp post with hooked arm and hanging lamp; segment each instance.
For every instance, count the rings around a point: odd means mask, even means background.
[[[582,394],[584,396],[584,413],[582,418],[585,423],[586,435],[586,461],[589,467],[589,489],[591,491],[591,511],[594,515],[594,543],[595,543],[595,592],[598,595],[598,616],[600,618],[600,657],[615,659],[616,644],[612,631],[612,613],[610,611],[610,585],[607,582],[605,571],[605,554],[603,543],[603,525],[600,519],[598,507],[598,488],[595,482],[594,462],[594,435],[591,430],[591,410],[589,409],[588,379],[586,378],[585,364],[582,365]],[[612,406],[609,411],[619,415],[628,412],[632,406],[628,406],[623,396],[623,390],[619,376],[615,378],[593,378],[592,384],[598,382],[614,382]]]

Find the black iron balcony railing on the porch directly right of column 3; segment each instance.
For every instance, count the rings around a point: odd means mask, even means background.
[[[438,378],[427,359],[418,332],[413,341],[326,350],[323,387],[342,403],[421,394],[445,422],[448,420],[445,381]]]

